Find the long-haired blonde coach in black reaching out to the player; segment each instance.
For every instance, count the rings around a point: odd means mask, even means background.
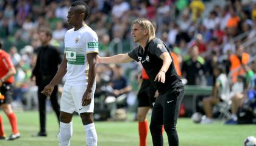
[[[133,21],[131,33],[133,41],[139,44],[138,47],[127,54],[98,57],[98,63],[126,63],[132,60],[141,62],[149,80],[159,92],[150,125],[153,145],[163,145],[162,125],[169,145],[179,145],[176,123],[184,87],[172,63],[170,50],[162,40],[155,38],[154,27],[148,19]]]

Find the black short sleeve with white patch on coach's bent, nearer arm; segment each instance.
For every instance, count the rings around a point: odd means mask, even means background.
[[[159,58],[164,52],[169,52],[165,44],[159,39],[155,40],[154,48],[151,47],[150,51]]]

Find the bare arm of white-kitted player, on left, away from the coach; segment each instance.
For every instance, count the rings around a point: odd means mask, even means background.
[[[45,96],[51,96],[52,91],[54,89],[54,86],[57,85],[62,77],[66,74],[66,63],[68,60],[66,60],[66,54],[64,54],[64,58],[62,60],[62,63],[60,63],[60,67],[55,74],[54,78],[52,78],[51,82],[44,87],[43,91],[41,91],[42,94]]]

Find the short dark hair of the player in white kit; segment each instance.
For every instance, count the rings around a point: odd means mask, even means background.
[[[77,13],[84,13],[85,17],[84,17],[84,21],[85,19],[87,19],[90,10],[88,5],[84,2],[84,1],[74,1],[71,4],[71,7],[74,7],[74,9],[76,10]]]

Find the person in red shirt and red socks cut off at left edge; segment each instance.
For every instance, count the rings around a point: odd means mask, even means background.
[[[7,115],[10,125],[12,127],[12,134],[10,134],[7,140],[14,140],[20,137],[20,132],[18,131],[17,118],[12,110],[12,83],[14,82],[13,75],[16,74],[16,70],[13,66],[10,55],[2,50],[2,43],[0,41],[0,106],[2,111]],[[5,139],[4,127],[2,116],[0,115],[0,139]]]

